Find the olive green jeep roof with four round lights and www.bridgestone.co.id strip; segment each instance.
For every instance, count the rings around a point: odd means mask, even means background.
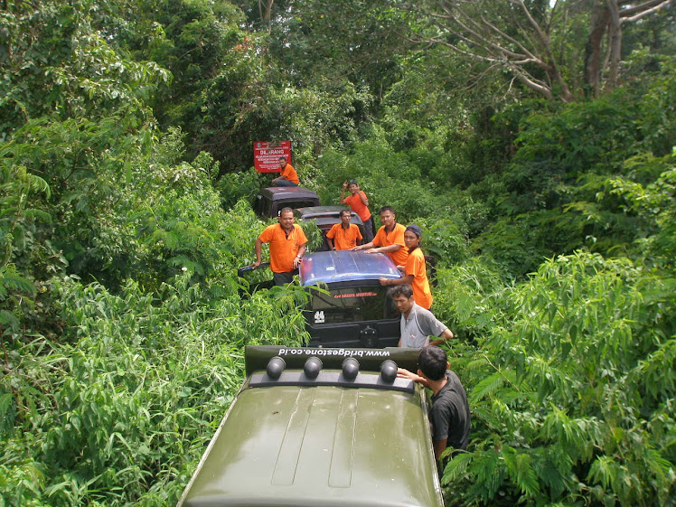
[[[418,349],[247,347],[178,507],[441,507]]]

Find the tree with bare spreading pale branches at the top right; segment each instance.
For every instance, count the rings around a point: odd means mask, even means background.
[[[615,89],[623,60],[623,28],[658,13],[673,0],[430,0],[404,2],[434,29],[418,42],[441,44],[547,99],[597,97]],[[584,43],[584,45],[582,45]],[[584,55],[584,58],[582,57]],[[485,70],[484,70],[485,71]]]

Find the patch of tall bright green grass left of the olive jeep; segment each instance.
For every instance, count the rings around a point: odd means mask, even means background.
[[[189,275],[147,293],[54,280],[65,336],[0,379],[0,502],[174,504],[242,381],[243,345],[305,340],[302,289],[210,303]]]

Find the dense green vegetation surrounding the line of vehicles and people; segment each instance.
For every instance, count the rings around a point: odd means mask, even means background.
[[[424,230],[474,418],[448,505],[676,504],[673,5],[603,93],[554,25],[565,101],[404,2],[266,5],[2,2],[0,506],[174,505],[243,345],[303,343],[302,291],[235,276],[277,139]]]

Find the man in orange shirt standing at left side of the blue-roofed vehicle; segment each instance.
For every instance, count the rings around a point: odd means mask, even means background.
[[[294,223],[294,211],[291,208],[282,208],[279,212],[279,223],[268,225],[256,239],[256,262],[251,265],[252,268],[260,266],[263,243],[270,244],[270,269],[275,285],[291,283],[298,273],[298,265],[305,254],[307,243],[305,232]]]

